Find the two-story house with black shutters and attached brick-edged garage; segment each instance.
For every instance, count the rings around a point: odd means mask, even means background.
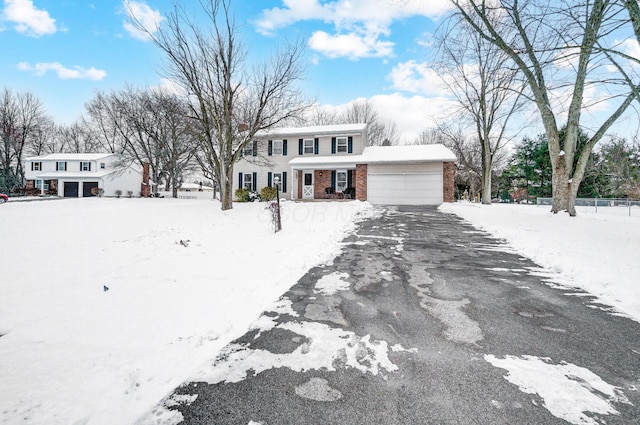
[[[456,158],[443,145],[368,146],[366,124],[273,129],[259,139],[236,164],[235,188],[260,191],[277,176],[287,199],[453,202]]]

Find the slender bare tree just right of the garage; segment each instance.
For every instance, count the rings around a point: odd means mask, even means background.
[[[452,23],[441,27],[436,68],[460,108],[455,119],[474,129],[482,160],[482,203],[491,204],[494,161],[512,138],[508,127],[524,106],[525,85],[506,53],[463,19]]]

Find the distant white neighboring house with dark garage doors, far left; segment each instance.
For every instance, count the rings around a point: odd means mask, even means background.
[[[134,165],[122,167],[119,159],[116,154],[104,153],[54,153],[27,158],[26,186],[40,189],[41,194],[65,198],[95,196],[99,189],[103,196],[116,196],[118,190],[124,196],[129,191],[139,196],[142,169]]]

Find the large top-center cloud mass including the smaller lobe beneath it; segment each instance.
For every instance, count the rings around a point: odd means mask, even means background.
[[[335,34],[313,34],[309,46],[331,58],[347,56],[381,57],[393,54],[393,43],[381,40],[389,36],[394,20],[411,16],[435,19],[449,9],[448,0],[283,0],[283,7],[262,12],[256,30],[274,35],[280,29],[300,21],[323,21],[335,27]],[[347,43],[341,46],[340,43]]]

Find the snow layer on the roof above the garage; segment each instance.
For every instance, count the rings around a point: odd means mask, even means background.
[[[362,152],[362,158],[367,164],[456,160],[451,149],[442,144],[369,146]]]

